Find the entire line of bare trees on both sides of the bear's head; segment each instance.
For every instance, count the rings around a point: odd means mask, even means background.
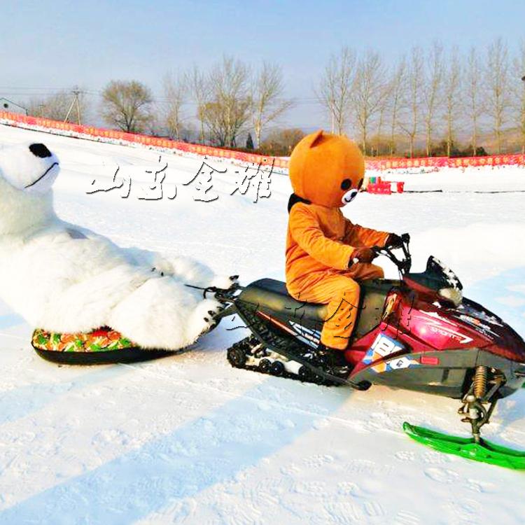
[[[358,139],[367,155],[431,156],[525,153],[525,41],[511,56],[498,38],[460,52],[439,42],[386,64],[379,52],[344,47],[314,86],[330,129]],[[251,68],[233,57],[205,71],[165,76],[162,97],[137,80],[112,80],[98,114],[110,127],[176,140],[289,155],[304,132],[279,127],[295,102],[284,96],[276,64]],[[89,93],[89,92],[88,92]],[[93,108],[80,90],[32,100],[29,113],[76,122]]]

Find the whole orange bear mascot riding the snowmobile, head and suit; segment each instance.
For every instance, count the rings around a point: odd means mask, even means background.
[[[370,247],[384,246],[393,234],[353,224],[341,212],[365,174],[363,155],[346,137],[307,135],[293,150],[289,172],[294,193],[288,204],[286,287],[297,300],[328,304],[321,343],[344,350],[358,313],[357,281],[384,276],[370,264]]]

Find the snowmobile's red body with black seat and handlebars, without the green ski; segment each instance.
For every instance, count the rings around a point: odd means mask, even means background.
[[[405,259],[398,260],[391,249],[377,248],[398,266],[400,280],[360,283],[358,321],[345,353],[352,365],[346,382],[360,389],[383,384],[463,398],[472,388],[475,370],[485,367],[489,383],[498,377],[498,398],[520,388],[525,381],[523,339],[498,316],[463,299],[461,282],[437,259],[428,259],[425,272],[410,273],[408,241],[403,249]],[[221,317],[238,314],[267,352],[286,357],[283,366],[271,370],[267,361],[274,363],[275,355],[248,352],[245,359],[237,351],[236,360],[230,352],[233,365],[307,377],[288,361],[299,353],[306,358],[315,354],[325,305],[297,301],[284,283],[273,279],[260,279],[239,295],[222,299],[230,307]]]

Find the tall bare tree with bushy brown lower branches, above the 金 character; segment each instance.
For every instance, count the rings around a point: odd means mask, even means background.
[[[202,106],[202,118],[218,146],[235,146],[237,135],[250,118],[249,69],[239,60],[223,57],[209,76],[210,102]]]

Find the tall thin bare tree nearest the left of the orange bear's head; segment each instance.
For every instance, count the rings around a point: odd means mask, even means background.
[[[267,62],[262,64],[262,68],[253,79],[250,95],[251,120],[257,147],[260,146],[264,127],[293,105],[292,101],[281,98],[283,90],[283,73],[279,66]]]

